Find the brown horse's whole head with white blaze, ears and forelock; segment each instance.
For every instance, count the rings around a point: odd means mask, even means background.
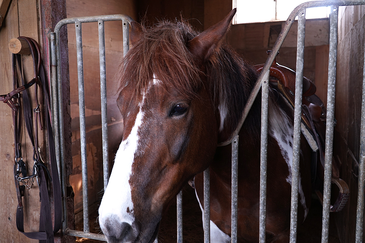
[[[131,23],[117,99],[123,139],[99,208],[108,242],[154,242],[162,212],[229,136],[206,70],[234,14],[199,35],[183,22]]]

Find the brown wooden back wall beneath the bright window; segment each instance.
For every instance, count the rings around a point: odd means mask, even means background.
[[[284,21],[235,24],[228,33],[228,42],[253,64],[265,63],[274,43],[284,27]],[[285,38],[276,61],[296,69],[297,21]],[[317,86],[317,95],[326,103],[328,75],[329,21],[307,20],[304,48],[304,76]]]

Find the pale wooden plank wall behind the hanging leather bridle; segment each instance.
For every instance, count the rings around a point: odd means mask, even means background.
[[[65,12],[62,8],[63,1],[58,0],[17,0],[0,1],[0,94],[7,94],[12,91],[12,55],[8,50],[8,42],[11,38],[18,36],[27,36],[35,39],[40,48],[41,55],[45,63],[47,77],[49,78],[49,59],[48,59],[48,40],[49,31],[52,30],[55,23],[64,18]],[[61,34],[61,38],[64,33]],[[63,47],[62,51],[67,51]],[[22,55],[23,74],[25,81],[28,82],[34,77],[32,57]],[[64,70],[67,70],[64,65]],[[67,78],[64,79],[67,82]],[[34,100],[34,87],[30,88],[31,100]],[[67,97],[67,96],[66,96]],[[41,109],[43,109],[41,105]],[[18,206],[17,196],[14,183],[14,126],[12,122],[12,113],[10,108],[3,104],[0,105],[1,126],[0,126],[0,242],[38,242],[26,238],[16,229],[16,208]],[[49,163],[45,149],[45,129],[39,130],[39,146],[41,156],[46,164]],[[26,135],[24,122],[21,126],[22,157],[26,161],[28,175],[31,175],[33,169],[32,145]],[[24,206],[24,229],[25,231],[39,230],[39,188],[34,182],[33,188],[26,191],[23,197]],[[73,218],[72,218],[73,219]],[[71,220],[72,224],[72,220]],[[60,242],[59,234],[56,235],[55,241]],[[65,238],[62,239],[65,242]]]

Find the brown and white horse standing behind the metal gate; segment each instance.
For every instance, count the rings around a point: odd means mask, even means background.
[[[230,242],[231,145],[258,78],[226,42],[235,14],[198,33],[187,21],[132,21],[117,105],[124,133],[99,208],[109,243],[155,241],[161,215],[189,180],[203,200],[210,167],[211,242]],[[269,91],[266,241],[289,242],[293,110]],[[238,242],[258,242],[261,93],[239,131]],[[311,149],[301,135],[298,222],[311,199]],[[202,207],[201,207],[202,208]],[[299,223],[300,224],[300,223]]]

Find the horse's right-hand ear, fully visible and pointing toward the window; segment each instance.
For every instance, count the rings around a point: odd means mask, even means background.
[[[189,40],[187,46],[192,54],[200,60],[207,60],[214,50],[219,48],[222,43],[235,13],[236,9],[234,8],[223,20],[219,21],[219,23],[201,32],[192,40]]]

